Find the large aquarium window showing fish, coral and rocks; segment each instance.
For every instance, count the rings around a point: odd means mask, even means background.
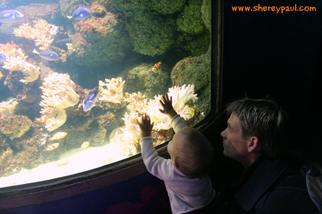
[[[0,1],[0,187],[84,172],[158,146],[210,112],[210,0]],[[212,83],[216,84],[216,83]]]

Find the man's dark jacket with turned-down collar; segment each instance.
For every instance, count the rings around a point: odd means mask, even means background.
[[[235,186],[234,200],[217,213],[318,213],[298,167],[266,156],[256,160]]]

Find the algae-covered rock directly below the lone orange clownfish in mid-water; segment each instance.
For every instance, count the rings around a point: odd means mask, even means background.
[[[141,92],[146,98],[153,99],[155,95],[166,94],[171,87],[170,70],[162,64],[158,70],[152,71],[153,64],[143,63],[125,72],[124,92]]]

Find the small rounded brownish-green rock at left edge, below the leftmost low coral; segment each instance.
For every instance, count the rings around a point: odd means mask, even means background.
[[[26,133],[33,122],[26,116],[15,115],[9,118],[0,118],[0,131],[6,136],[20,138]]]

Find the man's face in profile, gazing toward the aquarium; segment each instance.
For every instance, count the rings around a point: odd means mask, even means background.
[[[234,112],[232,112],[227,124],[228,127],[221,133],[223,137],[223,154],[243,163],[248,154],[247,139],[242,138],[242,127],[239,118]]]

